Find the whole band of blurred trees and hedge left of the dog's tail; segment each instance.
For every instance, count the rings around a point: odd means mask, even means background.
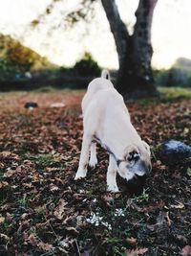
[[[1,91],[33,90],[47,85],[81,89],[101,73],[89,53],[74,67],[58,67],[7,35],[0,35],[0,49]]]

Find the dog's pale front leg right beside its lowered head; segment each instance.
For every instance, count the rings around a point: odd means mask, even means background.
[[[118,192],[117,187],[117,162],[110,154],[109,166],[107,171],[107,191]]]

